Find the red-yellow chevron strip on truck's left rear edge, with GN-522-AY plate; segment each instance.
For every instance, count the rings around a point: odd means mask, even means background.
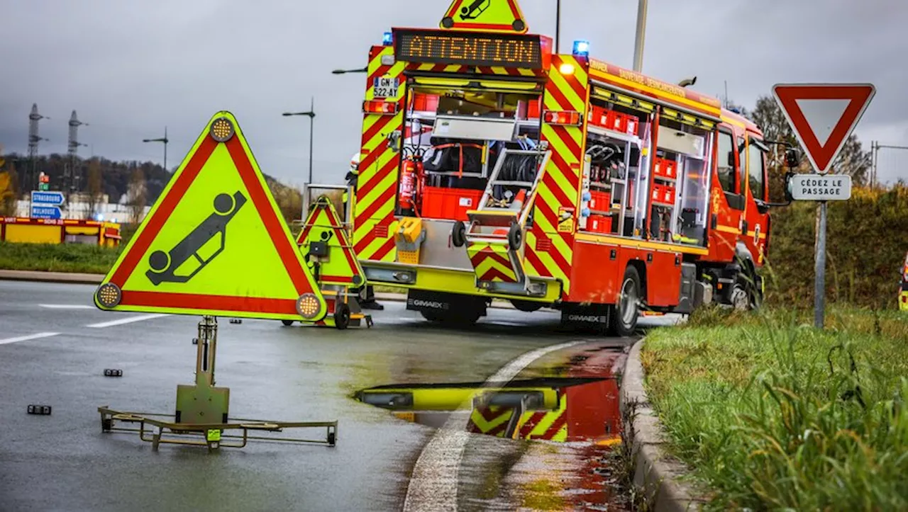
[[[377,78],[397,78],[397,95],[385,101],[397,101],[398,113],[380,115],[364,113],[362,146],[360,148],[360,177],[356,190],[356,213],[353,220],[353,246],[360,259],[394,261],[396,249],[391,235],[397,227],[394,202],[398,187],[400,153],[389,148],[388,135],[403,125],[403,97],[406,63],[385,65],[383,55],[393,55],[391,46],[373,46],[370,51],[369,78],[366,82],[366,101],[374,100],[373,83]]]

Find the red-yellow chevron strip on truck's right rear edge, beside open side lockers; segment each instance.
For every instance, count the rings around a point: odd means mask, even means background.
[[[561,69],[569,73],[562,73]],[[546,111],[577,111],[585,119],[589,91],[586,65],[569,55],[552,55],[546,83]],[[543,123],[542,139],[552,150],[545,173],[539,181],[534,203],[534,226],[527,234],[525,261],[529,275],[555,277],[570,291],[580,195],[580,171],[586,137],[583,126]],[[569,214],[568,219],[562,216]]]

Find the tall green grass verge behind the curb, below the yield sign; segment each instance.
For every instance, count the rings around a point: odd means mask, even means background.
[[[709,508],[908,509],[908,321],[722,315],[651,333],[647,387]]]

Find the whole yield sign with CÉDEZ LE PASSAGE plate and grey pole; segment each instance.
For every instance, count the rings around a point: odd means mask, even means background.
[[[773,95],[816,174],[786,186],[794,200],[820,201],[814,266],[814,326],[822,329],[826,295],[826,201],[851,198],[851,177],[829,175],[835,157],[860,121],[876,88],[871,83],[776,83]]]

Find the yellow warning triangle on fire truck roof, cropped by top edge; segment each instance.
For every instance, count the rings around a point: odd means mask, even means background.
[[[517,0],[454,0],[441,28],[526,34],[527,22]]]

